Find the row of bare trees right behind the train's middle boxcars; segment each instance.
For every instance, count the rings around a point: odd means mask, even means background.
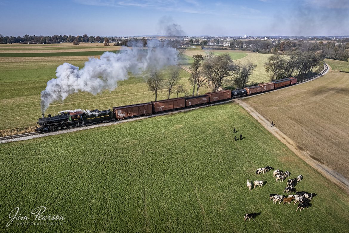
[[[208,86],[212,91],[218,91],[224,84],[233,84],[237,88],[244,88],[248,83],[253,70],[257,65],[248,62],[247,64],[234,63],[228,53],[215,56],[208,53],[203,56],[201,54],[193,55],[194,62],[190,66],[189,81],[192,85],[192,93],[194,96],[199,95],[199,89],[202,86]],[[168,98],[171,93],[184,93],[189,96],[189,88],[178,84],[180,80],[178,69],[170,73],[168,79],[159,70],[151,70],[147,80],[148,89],[154,92],[155,101],[159,91],[166,90]]]

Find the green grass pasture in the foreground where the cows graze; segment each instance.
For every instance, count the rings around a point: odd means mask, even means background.
[[[232,128],[245,137],[233,141]],[[349,198],[229,103],[0,145],[1,232],[346,232]],[[269,202],[304,179],[312,206]],[[248,191],[246,179],[267,181]],[[64,216],[63,226],[6,227],[16,206]],[[255,221],[244,214],[260,212]],[[31,218],[33,218],[30,215]]]

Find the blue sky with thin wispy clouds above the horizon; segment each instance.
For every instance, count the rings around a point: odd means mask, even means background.
[[[0,34],[349,35],[349,0],[0,0]]]

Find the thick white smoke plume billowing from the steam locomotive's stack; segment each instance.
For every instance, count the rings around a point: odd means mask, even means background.
[[[161,69],[177,64],[178,52],[165,41],[149,40],[147,49],[143,45],[125,47],[120,53],[105,52],[101,58],[90,58],[79,69],[70,63],[57,67],[56,76],[47,82],[41,92],[41,111],[54,101],[63,101],[70,94],[86,91],[93,95],[103,90],[114,90],[117,82],[126,80],[129,72],[139,75],[148,69]]]

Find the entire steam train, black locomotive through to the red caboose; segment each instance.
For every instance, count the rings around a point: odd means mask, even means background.
[[[174,98],[159,101],[152,101],[143,104],[133,104],[113,107],[113,110],[98,111],[63,111],[58,115],[39,118],[37,131],[46,133],[54,130],[87,126],[95,123],[105,123],[112,120],[123,120],[129,117],[150,115],[180,108],[195,107],[208,103],[215,103],[237,97],[250,96],[261,92],[286,87],[297,83],[297,78],[283,78],[270,83],[263,83],[253,87],[246,87],[241,90],[222,90],[208,92],[205,95],[186,98]]]

